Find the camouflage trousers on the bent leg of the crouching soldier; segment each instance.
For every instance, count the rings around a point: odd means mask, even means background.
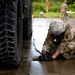
[[[69,44],[65,45],[65,49],[62,54],[66,59],[75,58],[75,43],[70,42]]]

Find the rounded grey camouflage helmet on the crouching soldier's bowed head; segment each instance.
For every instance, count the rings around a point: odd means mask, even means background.
[[[63,21],[52,21],[50,23],[49,29],[53,35],[57,36],[65,32],[66,25]]]

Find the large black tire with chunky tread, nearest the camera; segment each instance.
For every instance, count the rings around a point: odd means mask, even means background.
[[[0,65],[17,66],[22,50],[22,1],[4,0],[0,10]]]

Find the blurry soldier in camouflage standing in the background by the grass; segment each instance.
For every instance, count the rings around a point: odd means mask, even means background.
[[[68,5],[66,4],[67,2],[66,2],[66,0],[64,0],[64,2],[61,4],[61,6],[60,6],[60,8],[61,8],[61,10],[60,10],[60,18],[64,21],[64,22],[66,22],[66,20],[67,20],[67,10],[68,10]]]

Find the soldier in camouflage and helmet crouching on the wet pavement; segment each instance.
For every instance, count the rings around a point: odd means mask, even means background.
[[[44,56],[49,54],[46,59],[40,55],[39,61],[51,61],[61,56],[65,59],[75,58],[75,27],[71,24],[65,25],[62,21],[52,21],[41,53]]]

